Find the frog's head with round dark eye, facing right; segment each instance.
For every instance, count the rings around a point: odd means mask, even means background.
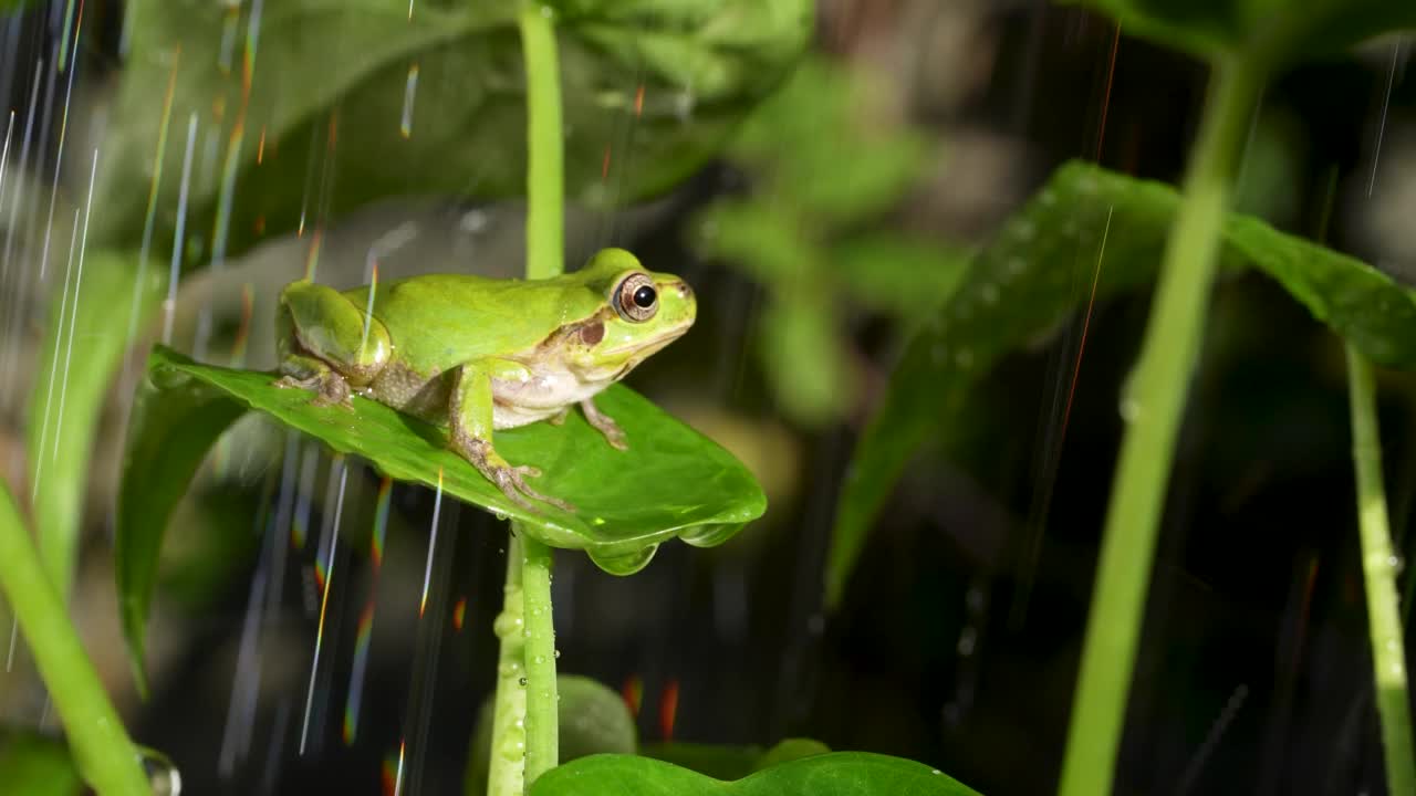
[[[582,378],[617,381],[694,324],[694,290],[671,273],[646,271],[624,249],[602,249],[572,275],[600,297],[598,310],[561,337],[561,356]]]

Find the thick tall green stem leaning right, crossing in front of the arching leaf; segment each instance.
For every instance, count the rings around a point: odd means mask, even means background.
[[[1221,227],[1262,85],[1263,69],[1242,61],[1218,62],[1211,78],[1140,358],[1123,401],[1126,438],[1106,516],[1062,796],[1112,792],[1175,436],[1199,350]]]

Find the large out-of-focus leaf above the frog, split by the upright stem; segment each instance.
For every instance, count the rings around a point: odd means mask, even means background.
[[[170,246],[188,133],[188,265],[388,195],[521,195],[521,4],[133,4],[95,235],[136,242],[147,207],[133,194],[157,173],[153,241]],[[813,14],[807,0],[549,6],[566,195],[596,205],[697,170],[790,68]]]

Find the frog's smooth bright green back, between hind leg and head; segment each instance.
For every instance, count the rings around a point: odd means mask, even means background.
[[[367,307],[368,290],[344,295]],[[602,306],[605,297],[578,275],[521,280],[429,273],[378,285],[372,314],[388,330],[395,360],[432,374],[530,350]]]

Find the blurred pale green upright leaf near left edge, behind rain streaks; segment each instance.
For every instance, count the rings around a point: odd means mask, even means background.
[[[157,303],[161,275],[149,269],[139,285],[136,261],[129,254],[78,251],[54,278],[59,295],[40,350],[27,446],[40,555],[59,595],[68,595],[74,576],[103,399]]]

